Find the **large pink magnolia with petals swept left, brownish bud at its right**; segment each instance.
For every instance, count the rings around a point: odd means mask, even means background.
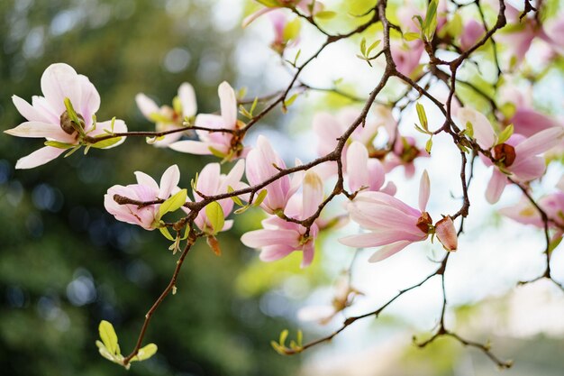
[[[403,250],[407,245],[427,239],[435,231],[432,218],[425,211],[430,194],[427,171],[423,172],[419,188],[419,210],[407,206],[396,197],[382,192],[360,192],[347,205],[350,218],[361,227],[370,230],[339,239],[340,243],[356,248],[378,247],[368,261],[377,262]],[[437,224],[440,225],[441,221]],[[439,240],[449,251],[456,250],[456,231],[452,221],[441,225]]]

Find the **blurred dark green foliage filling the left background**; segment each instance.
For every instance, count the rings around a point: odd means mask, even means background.
[[[216,111],[217,85],[234,80],[238,29],[214,28],[214,12],[214,2],[205,1],[3,0],[2,129],[23,121],[10,96],[41,95],[42,71],[59,61],[95,84],[102,97],[98,119],[115,115],[130,130],[152,127],[136,109],[135,94],[169,104],[183,81],[196,87],[200,111]],[[0,136],[0,373],[125,374],[97,353],[97,326],[112,322],[129,353],[177,255],[158,232],[105,213],[103,195],[114,184],[133,183],[135,170],[158,179],[172,163],[181,170],[181,186],[189,187],[213,159],[130,139],[121,148],[14,170],[15,160],[40,147],[39,140]],[[256,258],[241,249],[240,235],[220,234],[221,258],[204,242],[191,251],[177,294],[159,307],[146,336],[159,353],[133,364],[129,374],[293,373],[299,359],[268,345],[288,324],[261,311],[263,291],[241,295],[234,283]]]

